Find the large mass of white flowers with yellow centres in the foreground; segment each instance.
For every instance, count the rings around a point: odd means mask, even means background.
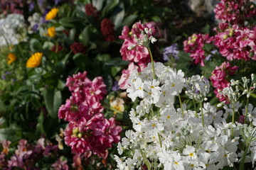
[[[185,85],[183,72],[176,72],[161,63],[154,65],[155,79],[151,64],[143,72],[134,70],[129,77],[128,96],[132,101],[136,98],[141,98],[141,101],[129,114],[134,130],[128,130],[118,144],[119,154],[125,154],[123,157],[114,155],[117,168],[144,169],[146,166],[164,170],[216,170],[234,166],[234,162],[238,162],[238,154],[240,157],[246,154],[238,153],[241,132],[245,132],[238,126],[243,125],[226,123],[226,118],[233,113],[233,105],[231,108],[225,105],[224,114],[210,103],[204,103],[200,113],[186,110],[185,104],[182,108],[174,108],[174,96],[178,96]],[[195,76],[190,83],[203,94],[203,98],[206,97],[208,81]],[[190,93],[197,94],[196,89],[191,89],[193,92]],[[238,105],[241,106],[240,103]],[[233,130],[235,136],[232,135]],[[255,131],[248,133],[254,135],[248,149],[250,161],[254,162]]]

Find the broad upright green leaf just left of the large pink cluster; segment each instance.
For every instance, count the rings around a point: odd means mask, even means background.
[[[52,118],[57,118],[58,115],[58,108],[61,105],[61,93],[59,90],[50,90],[50,89],[45,89],[43,91],[43,98],[46,103],[46,108],[49,113],[49,115]]]

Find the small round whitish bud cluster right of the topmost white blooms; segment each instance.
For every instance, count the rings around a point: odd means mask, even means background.
[[[210,84],[208,79],[203,76],[192,76],[186,79],[185,93],[192,100],[198,102],[207,101],[206,95],[210,92]]]

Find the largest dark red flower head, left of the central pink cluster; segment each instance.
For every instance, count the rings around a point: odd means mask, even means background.
[[[102,20],[100,30],[106,41],[114,41],[114,24],[108,18]]]

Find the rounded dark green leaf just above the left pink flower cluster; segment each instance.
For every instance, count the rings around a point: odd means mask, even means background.
[[[87,57],[87,55],[83,55],[82,53],[74,55],[73,60],[82,71],[88,69],[92,64],[90,58]]]

